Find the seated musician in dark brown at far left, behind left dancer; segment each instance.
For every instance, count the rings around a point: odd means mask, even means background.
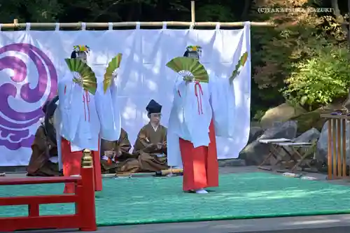
[[[31,157],[27,167],[27,176],[60,176],[57,161],[57,141],[52,130],[55,107],[48,109],[48,102],[43,106],[43,112],[50,114],[47,124],[41,122],[36,130],[35,139],[31,145]],[[50,127],[50,129],[49,129]],[[49,133],[48,133],[49,132]]]

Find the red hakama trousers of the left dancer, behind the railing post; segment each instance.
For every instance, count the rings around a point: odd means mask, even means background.
[[[62,137],[61,143],[63,175],[80,175],[81,158],[83,151],[71,151],[71,143]],[[92,164],[94,168],[94,190],[102,190],[102,176],[99,151],[92,150]],[[74,183],[66,183],[64,193],[74,193]]]

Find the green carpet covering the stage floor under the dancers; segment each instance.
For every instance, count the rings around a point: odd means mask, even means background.
[[[105,178],[97,224],[127,225],[350,213],[350,187],[266,173],[223,174],[208,195],[181,192],[182,177]],[[63,185],[0,186],[0,197],[62,193]],[[73,204],[41,206],[42,215],[73,213]],[[0,217],[25,206],[0,206]]]

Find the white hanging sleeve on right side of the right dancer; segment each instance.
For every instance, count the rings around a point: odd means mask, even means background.
[[[233,139],[236,130],[236,102],[233,83],[228,78],[211,75],[209,80],[211,108],[214,114],[216,136]]]

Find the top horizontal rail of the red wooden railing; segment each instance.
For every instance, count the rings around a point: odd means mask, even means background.
[[[0,185],[34,185],[43,183],[73,183],[80,177],[28,177],[28,178],[0,178]]]

